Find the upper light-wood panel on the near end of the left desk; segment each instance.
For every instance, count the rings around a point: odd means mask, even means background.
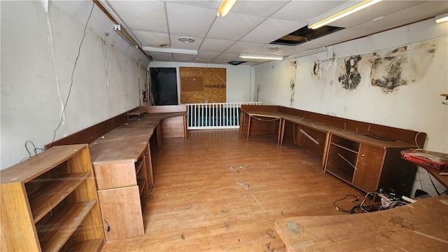
[[[134,162],[94,164],[98,190],[137,186]]]

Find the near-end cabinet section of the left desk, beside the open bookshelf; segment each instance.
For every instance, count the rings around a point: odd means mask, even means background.
[[[106,242],[144,235],[153,186],[149,137],[100,138],[90,146]]]

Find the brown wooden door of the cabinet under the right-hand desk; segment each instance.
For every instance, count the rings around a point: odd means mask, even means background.
[[[374,192],[377,190],[379,176],[384,160],[384,149],[366,144],[361,144],[356,160],[356,169],[353,174],[353,185],[365,190]]]

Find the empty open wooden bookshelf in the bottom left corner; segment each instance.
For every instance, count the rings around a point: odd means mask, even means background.
[[[87,144],[55,146],[0,171],[1,251],[99,251],[104,244]]]

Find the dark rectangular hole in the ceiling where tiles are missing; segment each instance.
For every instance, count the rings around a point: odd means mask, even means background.
[[[328,35],[332,32],[342,30],[342,27],[323,26],[318,29],[308,29],[308,26],[302,27],[297,31],[293,31],[290,34],[283,36],[276,41],[272,42],[275,45],[299,45],[307,41],[311,41],[314,38]]]

